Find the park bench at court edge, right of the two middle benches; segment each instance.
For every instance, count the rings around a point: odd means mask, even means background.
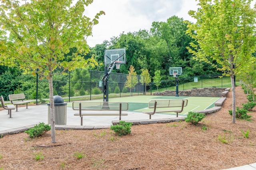
[[[151,111],[143,111],[142,113],[149,114],[149,119],[151,115],[155,113],[166,113],[175,112],[178,117],[178,113],[183,111],[183,107],[188,105],[188,100],[184,99],[174,99],[174,100],[150,100],[148,102],[148,108],[153,108]]]

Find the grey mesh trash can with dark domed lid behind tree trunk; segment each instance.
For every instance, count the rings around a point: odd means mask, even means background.
[[[60,96],[53,96],[54,100],[54,115],[55,115],[55,125],[66,125],[67,124],[67,103]],[[48,105],[48,124],[50,121],[50,103]]]

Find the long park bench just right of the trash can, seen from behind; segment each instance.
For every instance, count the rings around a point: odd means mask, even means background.
[[[79,110],[79,113],[74,113],[75,116],[81,117],[81,125],[83,125],[83,116],[108,116],[108,115],[128,115],[128,103],[127,102],[88,102],[77,101],[72,104],[73,110]],[[82,113],[83,111],[83,113]]]

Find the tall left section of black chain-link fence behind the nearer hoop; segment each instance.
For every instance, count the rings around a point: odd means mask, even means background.
[[[54,95],[64,98],[65,102],[75,100],[94,100],[103,98],[104,72],[76,69],[72,72],[53,75]],[[130,76],[130,78],[129,78]],[[142,80],[141,80],[142,79]],[[144,95],[144,77],[112,72],[108,76],[109,98]],[[36,103],[49,102],[48,80],[37,78]]]

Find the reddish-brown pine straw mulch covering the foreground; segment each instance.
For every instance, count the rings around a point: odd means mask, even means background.
[[[246,103],[236,87],[236,105]],[[199,125],[186,122],[134,125],[132,133],[118,137],[110,129],[56,131],[54,147],[50,131],[37,139],[26,133],[0,139],[0,168],[4,170],[219,170],[256,162],[256,111],[252,121],[232,123],[229,92],[223,108]],[[202,130],[202,127],[207,127]],[[243,137],[240,131],[250,131]],[[226,141],[223,143],[222,141]],[[38,145],[46,147],[38,147]],[[48,147],[47,147],[48,146]],[[35,154],[42,153],[41,160]],[[77,159],[75,154],[84,154]]]

